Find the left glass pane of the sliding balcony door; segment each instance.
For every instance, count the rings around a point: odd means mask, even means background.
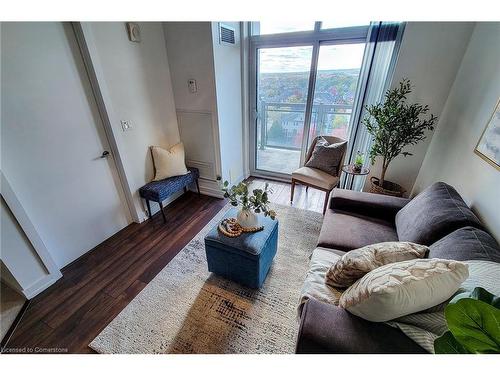
[[[300,165],[312,51],[258,49],[257,169],[291,174]]]

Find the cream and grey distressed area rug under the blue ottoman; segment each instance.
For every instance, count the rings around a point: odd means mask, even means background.
[[[323,216],[273,205],[278,252],[264,285],[243,287],[207,270],[213,220],[90,343],[99,353],[293,353],[296,308]]]

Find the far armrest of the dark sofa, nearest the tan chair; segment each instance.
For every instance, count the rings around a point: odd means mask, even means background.
[[[334,189],[330,199],[330,208],[394,221],[398,211],[408,202],[410,199],[407,198]]]

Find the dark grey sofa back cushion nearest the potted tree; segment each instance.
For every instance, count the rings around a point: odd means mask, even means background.
[[[396,214],[399,240],[427,246],[466,226],[483,228],[460,194],[444,182],[429,186]]]

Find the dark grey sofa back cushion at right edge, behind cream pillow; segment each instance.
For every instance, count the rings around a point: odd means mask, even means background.
[[[465,227],[429,246],[429,258],[488,260],[500,263],[500,246],[485,231]]]

